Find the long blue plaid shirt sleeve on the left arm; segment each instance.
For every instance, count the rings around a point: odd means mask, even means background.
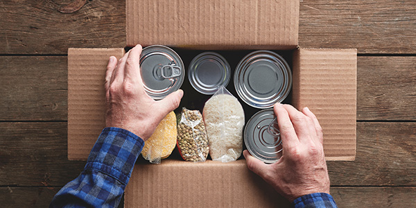
[[[82,173],[66,184],[49,207],[117,207],[144,141],[121,128],[105,128]]]

